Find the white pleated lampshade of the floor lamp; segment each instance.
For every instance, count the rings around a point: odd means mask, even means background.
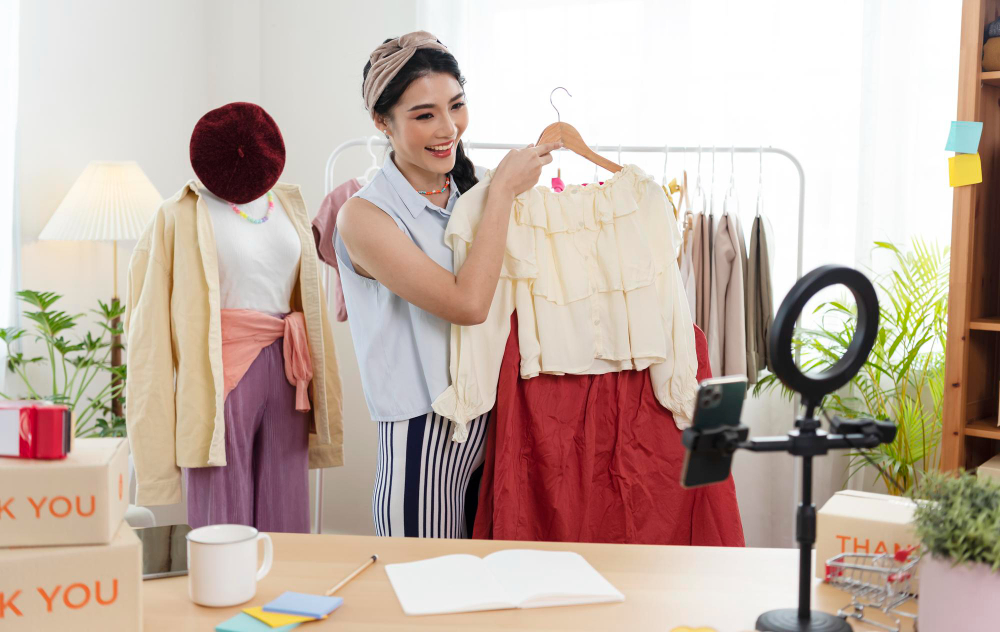
[[[133,161],[87,165],[39,239],[138,239],[163,198]]]

